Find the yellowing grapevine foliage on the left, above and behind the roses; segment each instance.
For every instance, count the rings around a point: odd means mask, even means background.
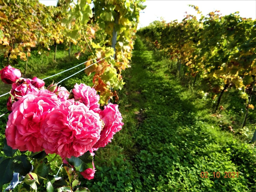
[[[117,100],[117,92],[123,87],[121,71],[130,66],[139,11],[145,8],[142,2],[59,0],[55,7],[38,0],[0,0],[0,51],[7,62],[20,58],[26,66],[33,47],[47,54],[45,49],[54,45],[56,60],[57,44],[61,43],[80,47],[76,58],[82,53],[89,54],[88,60],[108,58],[85,71],[87,75],[93,73],[94,88],[104,105],[113,96]],[[113,30],[117,32],[115,45]]]

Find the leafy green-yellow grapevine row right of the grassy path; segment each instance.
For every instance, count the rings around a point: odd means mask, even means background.
[[[200,13],[197,6],[193,7]],[[184,69],[183,78],[194,77],[193,85],[201,79],[205,92],[213,99],[218,95],[216,110],[225,91],[231,87],[238,90],[247,101],[246,119],[248,108],[254,108],[250,98],[256,74],[255,26],[256,20],[242,18],[239,12],[221,16],[215,11],[201,15],[199,20],[186,15],[181,23],[155,21],[139,29],[138,34],[176,60],[179,74],[181,66]]]

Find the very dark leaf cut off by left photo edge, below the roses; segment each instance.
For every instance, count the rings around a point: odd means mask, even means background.
[[[7,158],[0,163],[0,188],[3,184],[9,183],[13,178],[13,162],[11,158]]]

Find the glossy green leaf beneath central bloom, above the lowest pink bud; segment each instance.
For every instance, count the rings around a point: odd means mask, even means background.
[[[93,156],[91,153],[87,151],[85,154],[80,157],[71,157],[67,159],[69,164],[75,166],[75,169],[79,172],[83,172],[85,169],[91,168],[93,169]]]

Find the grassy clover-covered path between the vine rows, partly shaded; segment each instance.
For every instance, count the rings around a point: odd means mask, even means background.
[[[253,145],[223,130],[209,102],[169,65],[136,40],[120,91],[123,129],[95,152],[95,178],[83,184],[93,192],[255,191]]]

